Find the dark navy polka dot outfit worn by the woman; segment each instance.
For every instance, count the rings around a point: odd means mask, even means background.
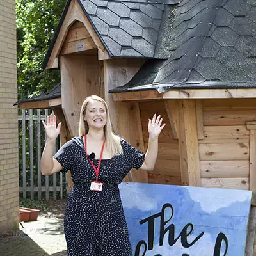
[[[140,168],[145,154],[120,140],[124,154],[102,159],[100,164],[102,192],[90,190],[96,176],[83,137],[72,138],[54,155],[63,166],[61,172],[70,170],[74,182],[64,218],[68,256],[132,256],[118,184],[132,168]],[[92,162],[97,168],[99,160]]]

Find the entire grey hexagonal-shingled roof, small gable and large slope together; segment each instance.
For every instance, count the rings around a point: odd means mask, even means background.
[[[77,1],[109,56],[150,59],[129,83],[110,93],[256,88],[255,0]]]

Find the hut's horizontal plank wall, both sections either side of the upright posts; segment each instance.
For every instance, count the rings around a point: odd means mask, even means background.
[[[175,139],[177,134],[173,135],[166,102],[140,101],[139,104],[145,150],[148,118],[157,113],[166,122],[159,136],[156,168],[148,172],[148,181],[181,185],[179,140]],[[196,118],[201,186],[255,191],[254,183],[250,184],[250,176],[255,177],[256,156],[250,156],[250,152],[255,152],[255,132],[246,123],[256,121],[256,99],[196,100]]]

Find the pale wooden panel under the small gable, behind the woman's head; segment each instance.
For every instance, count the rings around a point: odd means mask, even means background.
[[[100,95],[97,56],[63,55],[61,64],[61,99],[71,136],[77,136],[81,106],[89,95]]]

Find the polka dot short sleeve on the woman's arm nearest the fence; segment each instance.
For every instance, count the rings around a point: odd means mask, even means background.
[[[76,156],[76,143],[70,140],[65,143],[56,154],[53,156],[63,166],[61,172],[67,173],[74,164],[74,156]]]

